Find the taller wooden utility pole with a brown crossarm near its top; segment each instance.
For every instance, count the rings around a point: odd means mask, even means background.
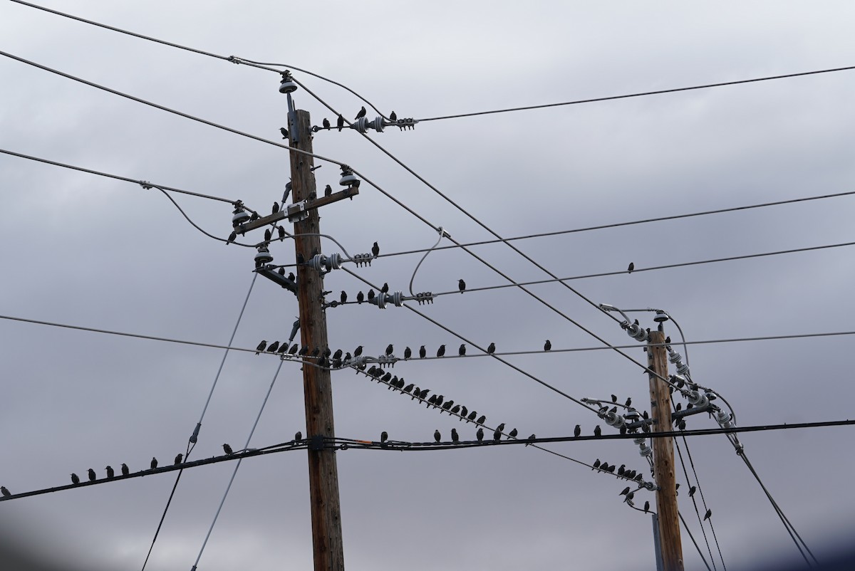
[[[289,96],[289,106],[290,106]],[[292,148],[312,152],[309,112],[296,110],[289,114],[289,139]],[[315,196],[315,174],[311,168],[314,158],[291,151],[291,182],[293,202]],[[285,205],[282,205],[285,209]],[[319,236],[300,234],[321,233],[318,211],[311,209],[303,221],[294,223],[294,248],[298,260],[310,260],[321,253]],[[297,298],[300,305],[300,337],[311,351],[327,348],[327,316],[321,308],[323,277],[313,268],[298,265]],[[345,551],[341,536],[339,507],[339,470],[335,450],[323,448],[324,438],[333,438],[333,391],[330,372],[312,365],[315,358],[304,357],[303,390],[306,403],[306,439],[309,442],[309,494],[312,509],[312,543],[315,571],[344,571]]]

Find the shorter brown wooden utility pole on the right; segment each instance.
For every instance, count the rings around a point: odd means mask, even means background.
[[[650,332],[647,341],[647,367],[668,378],[667,351],[663,343],[665,334]],[[659,346],[654,346],[660,344]],[[650,406],[654,433],[671,430],[671,393],[665,381],[650,375]],[[674,474],[674,442],[672,439],[653,439],[653,470],[659,487],[656,492],[659,541],[664,571],[683,571],[683,549],[680,541],[680,520],[677,514],[677,486]]]

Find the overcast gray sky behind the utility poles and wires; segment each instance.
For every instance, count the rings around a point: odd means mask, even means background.
[[[220,54],[297,66],[349,86],[384,113],[428,118],[855,65],[851,3],[181,3],[56,2],[44,6]],[[280,141],[286,97],[257,68],[131,38],[19,3],[0,4],[0,50],[118,91]],[[287,151],[0,58],[0,148],[150,180],[268,212],[289,177]],[[294,72],[351,119],[356,96]],[[334,121],[304,90],[313,122]],[[819,74],[651,97],[445,121],[371,132],[384,148],[504,237],[852,191],[855,72]],[[376,115],[369,110],[369,118]],[[434,226],[469,242],[492,238],[356,132],[319,132],[315,152],[347,162]],[[0,155],[4,223],[0,314],[226,344],[252,279],[253,251],[199,233],[154,189]],[[336,186],[325,164],[318,184]],[[226,236],[231,208],[174,195],[193,221]],[[852,197],[619,227],[516,243],[558,276],[598,274],[852,241]],[[427,248],[436,233],[371,185],[322,211],[322,230],[352,253]],[[252,238],[252,240],[260,239]],[[250,241],[249,238],[247,241]],[[339,251],[324,242],[325,253]],[[658,307],[687,339],[852,331],[851,248],[575,280],[594,303]],[[516,281],[548,276],[504,244],[475,248]],[[274,244],[292,263],[290,242]],[[352,268],[407,291],[419,256]],[[416,291],[506,283],[463,251],[428,256]],[[366,289],[345,272],[327,290]],[[569,289],[532,291],[610,344],[615,321]],[[525,292],[439,297],[420,308],[500,351],[597,346]],[[285,339],[296,299],[258,280],[234,345]],[[652,315],[637,315],[653,327]],[[334,348],[379,355],[394,343],[434,352],[459,339],[407,309],[327,311]],[[671,324],[666,331],[676,338]],[[222,351],[0,320],[0,483],[25,492],[68,474],[184,451]],[[852,337],[699,344],[694,380],[734,406],[740,426],[852,417]],[[469,353],[476,352],[469,348]],[[685,353],[685,351],[681,351]],[[641,347],[628,350],[643,362]],[[612,351],[509,358],[570,395],[643,406],[647,378]],[[238,448],[278,362],[233,352],[203,421],[194,458]],[[399,363],[395,373],[507,423],[563,436],[596,415],[492,359]],[[475,427],[417,406],[361,375],[333,374],[336,433],[426,441]],[[685,406],[685,403],[684,403]],[[716,427],[705,415],[690,428]],[[304,430],[301,373],[286,362],[252,445]],[[610,429],[604,430],[608,433]],[[746,452],[822,560],[851,538],[852,428],[750,433]],[[447,436],[446,436],[447,438]],[[798,551],[723,436],[690,439],[724,562],[750,568]],[[641,470],[631,441],[550,444],[582,462]],[[685,454],[685,450],[684,450]],[[349,568],[653,568],[649,516],[628,509],[620,480],[522,446],[338,454]],[[233,464],[182,477],[148,568],[192,566]],[[689,474],[694,483],[694,476]],[[646,473],[646,476],[649,476]],[[679,471],[678,481],[687,487]],[[174,473],[0,504],[0,525],[82,568],[142,565]],[[651,500],[636,494],[636,503]],[[702,545],[685,493],[681,511]],[[710,528],[705,527],[707,533]],[[11,531],[6,533],[12,533]],[[712,538],[710,537],[712,540]],[[683,533],[687,568],[702,568]],[[721,561],[715,545],[716,564]],[[310,568],[305,452],[243,462],[199,569]]]

